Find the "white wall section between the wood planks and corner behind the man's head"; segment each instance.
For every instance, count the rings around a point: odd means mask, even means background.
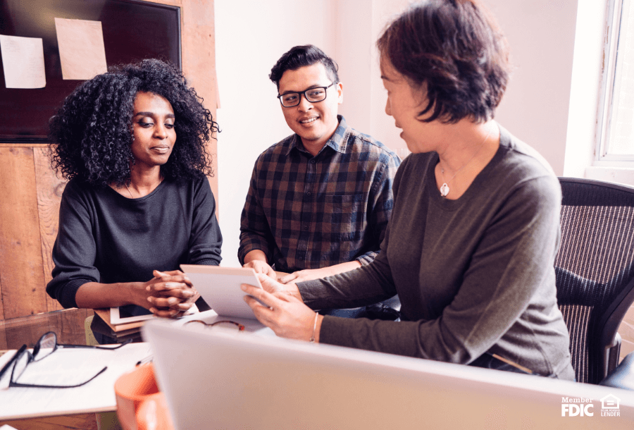
[[[240,266],[240,214],[257,156],[291,130],[268,74],[298,44],[335,50],[330,0],[216,0],[218,209],[223,266]]]

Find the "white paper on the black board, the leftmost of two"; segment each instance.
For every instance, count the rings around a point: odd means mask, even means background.
[[[41,38],[0,35],[0,50],[5,87],[46,87]]]

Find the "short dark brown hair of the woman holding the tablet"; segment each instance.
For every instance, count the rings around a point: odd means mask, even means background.
[[[425,122],[487,121],[511,70],[506,39],[478,0],[428,0],[396,18],[377,41],[380,55],[425,89]]]

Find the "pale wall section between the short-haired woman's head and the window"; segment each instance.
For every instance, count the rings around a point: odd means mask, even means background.
[[[596,0],[592,0],[596,1]],[[564,171],[576,0],[485,0],[509,40],[515,70],[500,124]]]

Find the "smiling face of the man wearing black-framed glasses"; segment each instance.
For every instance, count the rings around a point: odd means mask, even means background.
[[[328,78],[322,63],[286,70],[280,79],[280,94],[304,92],[313,87],[328,87],[332,81]],[[341,82],[326,90],[326,98],[321,102],[311,103],[301,94],[299,104],[290,108],[282,106],[282,113],[288,126],[302,137],[304,147],[321,149],[330,136],[337,130],[338,105],[343,102],[343,86]]]

